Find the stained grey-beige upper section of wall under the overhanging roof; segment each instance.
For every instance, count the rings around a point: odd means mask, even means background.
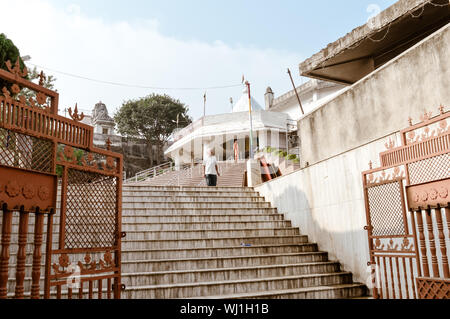
[[[399,131],[450,104],[450,24],[299,121],[302,167]]]

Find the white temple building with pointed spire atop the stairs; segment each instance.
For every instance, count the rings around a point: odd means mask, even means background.
[[[302,106],[312,110],[326,103],[345,86],[331,82],[311,80],[296,88]],[[248,91],[245,87],[242,96],[228,114],[208,115],[173,135],[173,144],[165,155],[176,166],[201,161],[208,149],[214,149],[219,161],[235,159],[234,143],[238,144],[238,159],[250,157],[250,145],[253,154],[266,147],[272,147],[298,155],[297,121],[303,116],[295,91],[291,90],[277,98],[270,87],[267,88],[265,107],[253,97],[252,136],[250,143],[250,117]]]

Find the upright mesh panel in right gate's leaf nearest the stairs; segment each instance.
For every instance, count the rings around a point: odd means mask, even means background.
[[[367,189],[373,236],[406,235],[400,182]]]

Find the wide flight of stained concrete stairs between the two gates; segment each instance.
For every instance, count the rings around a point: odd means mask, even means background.
[[[124,298],[357,298],[353,283],[251,188],[124,186]]]

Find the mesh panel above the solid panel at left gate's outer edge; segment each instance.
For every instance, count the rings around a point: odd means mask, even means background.
[[[0,128],[0,165],[53,172],[53,142]]]

